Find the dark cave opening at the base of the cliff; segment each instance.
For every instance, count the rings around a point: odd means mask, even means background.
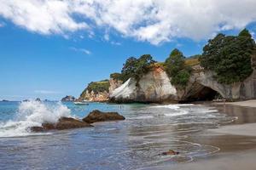
[[[195,94],[189,95],[187,101],[212,101],[213,99],[223,99],[217,91],[212,88],[202,86],[197,88]]]

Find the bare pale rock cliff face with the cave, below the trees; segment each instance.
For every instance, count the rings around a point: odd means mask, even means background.
[[[213,99],[216,94],[228,100],[255,99],[256,71],[254,70],[253,74],[243,82],[225,85],[213,78],[212,71],[203,71],[199,65],[196,65],[193,67],[187,87],[179,90],[171,84],[166,72],[157,67],[138,82],[130,78],[119,88],[114,89],[110,94],[110,100],[114,102],[188,101]]]

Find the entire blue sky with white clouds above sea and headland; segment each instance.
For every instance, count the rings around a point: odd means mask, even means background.
[[[255,39],[255,0],[0,0],[0,99],[79,97],[128,57],[201,54],[243,28]]]

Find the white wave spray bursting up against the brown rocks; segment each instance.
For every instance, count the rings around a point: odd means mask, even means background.
[[[0,124],[0,137],[35,135],[29,132],[28,127],[41,126],[43,122],[57,122],[61,116],[70,116],[70,110],[61,103],[21,102],[15,120]]]

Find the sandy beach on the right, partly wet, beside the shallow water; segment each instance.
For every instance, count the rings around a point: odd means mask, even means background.
[[[207,105],[217,107],[218,111],[228,116],[236,117],[234,122],[189,137],[189,141],[194,143],[217,146],[220,149],[218,153],[198,157],[189,163],[158,169],[255,170],[256,100]]]

